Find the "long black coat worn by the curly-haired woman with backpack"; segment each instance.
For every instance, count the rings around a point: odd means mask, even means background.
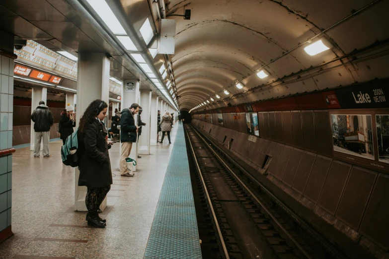
[[[107,130],[97,119],[83,132],[78,131],[81,160],[78,186],[107,187],[112,184],[111,163],[106,140]]]

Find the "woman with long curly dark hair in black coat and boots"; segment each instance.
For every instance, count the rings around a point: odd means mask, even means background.
[[[107,116],[108,105],[94,100],[79,120],[80,165],[78,186],[86,186],[85,205],[88,209],[88,226],[103,228],[106,221],[98,215],[98,208],[111,189],[112,172],[107,142],[107,129],[102,122]]]

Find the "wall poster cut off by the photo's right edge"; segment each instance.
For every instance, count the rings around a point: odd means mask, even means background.
[[[389,115],[376,115],[378,160],[389,163]]]

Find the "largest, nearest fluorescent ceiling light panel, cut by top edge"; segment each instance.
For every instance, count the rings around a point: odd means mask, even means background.
[[[119,20],[113,14],[105,0],[86,0],[94,11],[100,16],[103,22],[115,35],[126,35],[126,31],[120,24]]]

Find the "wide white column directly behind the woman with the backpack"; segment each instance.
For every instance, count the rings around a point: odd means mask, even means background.
[[[100,99],[109,103],[109,58],[105,53],[78,53],[78,73],[77,73],[77,114],[76,124],[78,127],[79,119],[84,113],[86,107],[96,100]],[[104,123],[107,126],[108,117]],[[76,169],[75,181],[75,210],[86,211],[85,195],[86,187],[78,186],[79,171]],[[104,210],[107,206],[107,198],[100,206]]]

